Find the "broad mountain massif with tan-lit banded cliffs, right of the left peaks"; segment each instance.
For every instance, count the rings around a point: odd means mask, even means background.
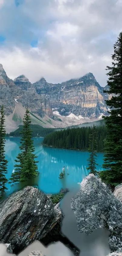
[[[73,113],[90,118],[97,118],[101,113],[107,114],[106,95],[92,73],[54,85],[42,78],[33,86],[44,99],[45,110],[53,108],[63,116]]]

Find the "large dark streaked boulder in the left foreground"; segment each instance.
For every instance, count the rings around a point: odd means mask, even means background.
[[[27,186],[0,204],[0,243],[10,243],[14,253],[41,240],[61,218],[45,193]]]

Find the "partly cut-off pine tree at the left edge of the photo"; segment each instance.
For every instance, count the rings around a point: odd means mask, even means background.
[[[5,117],[4,117],[4,106],[1,107],[0,111],[0,197],[5,193],[7,189],[6,183],[8,182],[5,174],[7,173],[8,161],[5,159]]]

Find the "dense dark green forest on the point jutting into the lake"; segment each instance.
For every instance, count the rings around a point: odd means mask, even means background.
[[[97,152],[104,151],[104,139],[106,138],[106,127],[97,126]],[[68,128],[66,130],[56,131],[48,134],[43,144],[58,148],[88,150],[89,135],[91,134],[91,127]]]

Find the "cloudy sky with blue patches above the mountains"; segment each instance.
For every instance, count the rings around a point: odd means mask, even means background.
[[[0,0],[0,63],[61,83],[91,72],[107,84],[113,44],[122,31],[122,0]]]

